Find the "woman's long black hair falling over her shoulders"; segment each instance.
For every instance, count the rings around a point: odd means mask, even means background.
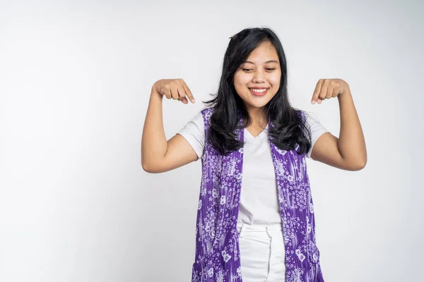
[[[283,46],[273,30],[268,27],[246,28],[230,37],[223,61],[223,72],[220,77],[216,97],[204,102],[212,105],[211,126],[208,137],[220,154],[229,154],[243,147],[244,143],[237,140],[234,130],[238,125],[238,112],[242,114],[246,128],[252,123],[247,108],[234,87],[234,75],[247,61],[249,55],[264,42],[270,42],[275,47],[281,66],[280,87],[275,96],[261,111],[266,114],[274,125],[269,126],[269,138],[279,149],[295,149],[298,144],[298,154],[308,152],[311,147],[311,133],[302,118],[300,110],[290,105],[287,92],[287,61]],[[242,129],[240,128],[240,129]]]

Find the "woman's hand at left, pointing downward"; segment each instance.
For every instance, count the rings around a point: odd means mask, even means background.
[[[195,102],[192,92],[182,78],[158,80],[153,85],[153,89],[167,99],[175,99],[187,104],[187,97],[189,97],[192,103]]]

